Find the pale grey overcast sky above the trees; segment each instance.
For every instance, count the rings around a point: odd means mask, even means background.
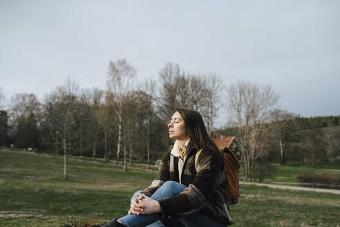
[[[166,62],[225,84],[271,84],[280,107],[340,114],[340,1],[0,1],[0,87],[43,98],[68,76],[106,86],[108,62],[137,78]]]

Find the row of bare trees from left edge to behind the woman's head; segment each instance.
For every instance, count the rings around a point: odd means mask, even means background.
[[[167,124],[176,107],[199,111],[211,133],[223,88],[218,75],[190,73],[170,62],[157,80],[137,81],[136,73],[117,60],[109,62],[104,90],[81,89],[68,78],[43,100],[16,94],[0,111],[0,145],[149,164],[171,145]]]

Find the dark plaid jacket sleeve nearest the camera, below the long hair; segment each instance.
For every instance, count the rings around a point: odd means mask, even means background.
[[[162,217],[185,217],[200,210],[211,197],[218,185],[224,181],[224,175],[216,167],[214,158],[205,152],[198,157],[196,176],[180,194],[157,199],[162,208]]]

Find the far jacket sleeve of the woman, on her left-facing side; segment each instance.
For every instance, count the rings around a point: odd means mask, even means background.
[[[142,190],[142,194],[147,195],[148,197],[151,197],[153,192],[155,190],[158,190],[160,186],[162,186],[165,181],[169,181],[170,179],[170,172],[169,172],[169,158],[170,158],[170,152],[164,154],[162,157],[162,160],[160,161],[160,165],[158,166],[158,176],[153,179],[151,182],[151,185],[144,190]]]

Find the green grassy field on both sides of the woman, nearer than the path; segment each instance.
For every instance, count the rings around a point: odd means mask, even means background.
[[[126,215],[136,190],[156,172],[100,161],[0,150],[0,226],[100,226]],[[289,173],[287,173],[289,175]],[[29,178],[35,176],[37,179]],[[240,185],[232,226],[340,226],[340,195]],[[41,217],[1,217],[31,212]]]

